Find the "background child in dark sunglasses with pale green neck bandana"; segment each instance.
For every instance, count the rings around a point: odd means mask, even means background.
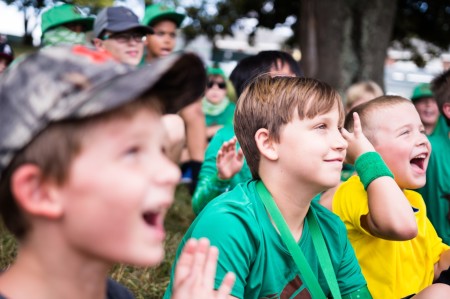
[[[233,124],[236,104],[227,97],[227,77],[222,69],[210,67],[206,70],[208,83],[202,99],[205,113],[206,135],[210,140],[224,125]]]

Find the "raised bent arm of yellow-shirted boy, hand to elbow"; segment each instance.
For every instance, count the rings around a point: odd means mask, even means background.
[[[371,159],[370,163],[363,162],[363,155],[366,154],[367,158],[367,153],[375,152],[375,149],[362,132],[358,114],[354,113],[353,117],[353,133],[343,129],[342,135],[349,144],[347,150],[349,160],[356,161],[361,158],[359,160],[361,163],[359,165],[355,163],[355,166],[357,166],[359,176],[362,177],[361,172],[376,171],[377,164],[381,167],[386,165],[381,157],[373,161]],[[361,226],[364,229],[373,236],[387,240],[410,240],[417,235],[414,211],[392,177],[385,175],[376,177],[369,183],[366,191],[369,213],[361,217]]]

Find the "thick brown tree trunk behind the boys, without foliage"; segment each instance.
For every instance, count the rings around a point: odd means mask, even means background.
[[[343,92],[360,80],[384,86],[384,60],[397,0],[302,0],[305,74]]]

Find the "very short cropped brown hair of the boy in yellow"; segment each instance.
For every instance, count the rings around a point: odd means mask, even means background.
[[[350,132],[353,132],[353,113],[357,112],[361,120],[361,126],[364,135],[366,135],[367,139],[369,139],[369,141],[374,144],[376,142],[375,132],[377,131],[377,122],[374,121],[373,116],[376,113],[383,113],[381,110],[386,107],[392,107],[401,103],[409,103],[413,105],[410,100],[404,97],[389,95],[381,96],[369,102],[358,105],[350,110],[346,115],[344,128]]]

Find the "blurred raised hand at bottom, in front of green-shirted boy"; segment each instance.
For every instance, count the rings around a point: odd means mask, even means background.
[[[228,273],[220,288],[214,290],[218,255],[208,239],[188,240],[175,268],[172,299],[227,299],[235,275]]]

